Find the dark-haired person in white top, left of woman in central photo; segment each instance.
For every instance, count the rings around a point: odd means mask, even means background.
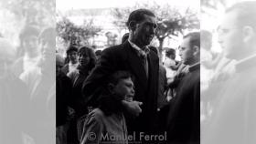
[[[68,75],[69,72],[76,70],[79,66],[78,51],[79,48],[77,46],[69,46],[69,48],[67,49],[68,63],[61,68],[62,72],[65,75]]]

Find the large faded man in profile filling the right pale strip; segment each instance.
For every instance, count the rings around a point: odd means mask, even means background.
[[[233,74],[215,96],[212,117],[202,127],[202,143],[256,142],[256,2],[240,2],[226,10],[219,26],[223,54],[237,60]]]

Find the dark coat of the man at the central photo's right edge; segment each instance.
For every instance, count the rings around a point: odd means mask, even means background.
[[[200,65],[189,67],[177,95],[170,103],[167,119],[170,143],[200,143]]]

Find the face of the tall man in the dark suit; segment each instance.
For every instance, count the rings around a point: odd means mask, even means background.
[[[148,46],[155,36],[156,18],[144,15],[144,20],[137,23],[133,31],[135,44],[138,46]]]

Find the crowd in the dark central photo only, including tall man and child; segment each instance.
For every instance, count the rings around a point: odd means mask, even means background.
[[[156,15],[137,9],[126,25],[122,44],[100,57],[88,46],[69,46],[68,60],[57,54],[57,141],[198,143],[200,33],[184,36],[182,61],[171,48],[162,63],[150,46]]]

